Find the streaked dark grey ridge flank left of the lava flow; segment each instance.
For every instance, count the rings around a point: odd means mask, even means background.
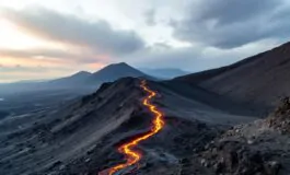
[[[132,79],[104,83],[97,92],[62,105],[56,112],[47,112],[46,116],[26,115],[0,122],[0,140],[16,144],[15,149],[7,150],[9,143],[0,143],[0,172],[7,175],[49,174],[39,172],[54,172],[61,162],[68,163],[74,156],[85,155],[94,145],[102,145],[103,137],[139,110],[136,104],[141,93],[136,83]],[[115,141],[120,138],[118,135]],[[104,158],[105,151],[114,152],[113,147],[103,149],[96,158]],[[12,170],[10,160],[14,160]]]

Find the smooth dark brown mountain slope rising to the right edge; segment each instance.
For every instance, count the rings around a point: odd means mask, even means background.
[[[200,86],[253,107],[271,109],[290,95],[290,43],[229,67],[195,73],[177,81]]]

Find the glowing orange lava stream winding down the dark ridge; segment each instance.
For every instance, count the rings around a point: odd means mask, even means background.
[[[129,167],[131,165],[135,165],[137,162],[139,162],[142,158],[142,154],[138,151],[132,150],[134,148],[136,148],[140,141],[147,140],[150,137],[154,136],[155,133],[158,133],[163,127],[164,127],[164,120],[163,120],[163,114],[158,109],[158,107],[153,104],[150,103],[150,100],[153,98],[154,96],[156,96],[156,93],[152,90],[150,90],[147,86],[147,82],[143,80],[141,81],[140,88],[148,93],[148,95],[144,97],[144,100],[142,101],[142,104],[148,107],[148,109],[150,110],[150,113],[152,113],[154,115],[154,119],[152,120],[152,126],[150,131],[144,132],[143,135],[138,135],[137,138],[135,138],[134,140],[130,140],[124,144],[121,144],[118,148],[118,152],[124,154],[126,158],[126,163],[121,163],[118,164],[114,167],[108,168],[105,172],[101,172],[98,173],[98,175],[113,175],[126,167]]]

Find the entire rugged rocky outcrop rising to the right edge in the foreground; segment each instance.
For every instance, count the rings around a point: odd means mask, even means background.
[[[202,166],[219,175],[288,175],[290,100],[268,118],[239,125],[205,147]]]

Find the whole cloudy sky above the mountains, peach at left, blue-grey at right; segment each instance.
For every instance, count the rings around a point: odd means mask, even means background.
[[[220,67],[288,42],[289,19],[287,0],[0,1],[0,82]]]

